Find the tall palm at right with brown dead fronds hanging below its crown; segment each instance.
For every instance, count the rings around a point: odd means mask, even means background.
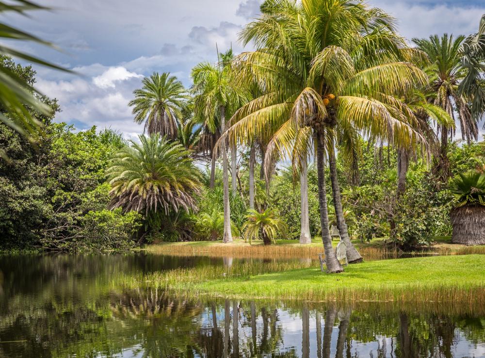
[[[443,34],[432,35],[429,39],[414,38],[413,42],[423,51],[431,63],[427,69],[430,76],[430,89],[435,93],[434,103],[443,108],[454,118],[454,108],[460,121],[462,138],[470,142],[478,137],[478,122],[471,114],[469,98],[458,90],[460,81],[465,77],[465,71],[460,61],[460,47],[465,39],[458,36]],[[453,137],[454,129],[444,124],[440,126],[441,152],[439,166],[436,171],[442,179],[450,176],[447,157],[448,135]]]

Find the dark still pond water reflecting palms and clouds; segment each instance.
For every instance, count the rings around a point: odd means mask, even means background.
[[[485,357],[483,307],[181,299],[110,285],[237,262],[0,256],[0,357]]]

